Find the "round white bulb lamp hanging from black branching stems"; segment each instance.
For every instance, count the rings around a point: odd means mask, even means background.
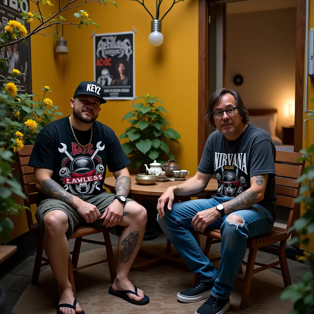
[[[162,33],[161,33],[161,21],[162,21],[162,19],[168,14],[168,12],[172,9],[172,7],[176,3],[180,2],[180,1],[184,1],[184,0],[173,0],[171,7],[163,15],[163,17],[161,19],[159,19],[159,9],[160,9],[160,4],[162,3],[163,0],[156,0],[156,17],[155,18],[149,12],[149,10],[146,8],[146,6],[144,4],[144,0],[142,0],[142,2],[140,2],[139,0],[131,0],[131,1],[137,1],[138,3],[142,4],[142,6],[145,8],[145,10],[152,17],[153,20],[151,21],[151,33],[148,36],[148,40],[153,46],[160,46],[164,41],[164,35],[162,35]]]

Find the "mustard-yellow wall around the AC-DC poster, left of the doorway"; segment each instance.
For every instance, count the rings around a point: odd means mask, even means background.
[[[136,96],[153,94],[164,101],[168,111],[165,118],[181,135],[180,146],[171,145],[181,169],[193,174],[198,165],[198,3],[194,0],[177,3],[162,22],[165,40],[162,46],[151,46],[148,41],[151,18],[137,2],[116,1],[119,9],[97,2],[83,5],[89,18],[99,25],[66,25],[64,37],[68,42],[69,54],[54,56],[53,36],[31,37],[33,90],[39,94],[42,85],[49,85],[53,93],[49,97],[64,115],[71,112],[69,100],[77,85],[83,80],[93,80],[93,39],[91,34],[131,31],[135,28],[135,87]],[[148,3],[150,12],[155,11],[154,1]],[[170,7],[172,0],[162,3],[161,14]],[[31,3],[31,10],[37,12]],[[56,7],[47,6],[44,16],[56,12]],[[62,14],[68,22],[76,22],[73,12]],[[154,15],[154,14],[153,14]],[[37,23],[37,22],[35,22]],[[50,28],[46,29],[51,34]],[[102,105],[98,120],[111,127],[119,137],[128,127],[122,117],[132,110],[131,100],[111,100]],[[112,175],[112,174],[108,174]],[[12,218],[14,238],[28,230],[25,213]]]

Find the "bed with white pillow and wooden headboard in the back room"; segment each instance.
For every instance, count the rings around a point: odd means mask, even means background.
[[[282,140],[277,136],[277,109],[248,109],[248,111],[250,115],[248,123],[265,130],[272,138],[276,150],[294,151],[293,145],[283,145]]]

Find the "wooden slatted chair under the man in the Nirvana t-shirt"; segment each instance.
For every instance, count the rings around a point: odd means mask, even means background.
[[[273,227],[273,230],[261,237],[251,238],[247,242],[247,248],[249,248],[249,255],[247,262],[243,261],[246,265],[244,288],[242,292],[242,299],[240,308],[245,310],[248,306],[248,298],[250,293],[250,287],[252,282],[253,274],[259,273],[268,268],[275,268],[281,270],[284,286],[291,284],[290,273],[285,253],[286,242],[290,237],[291,232],[288,230],[293,225],[295,219],[298,217],[297,211],[295,211],[295,197],[298,195],[299,187],[301,184],[296,183],[295,180],[300,177],[301,172],[304,168],[303,161],[296,161],[298,158],[302,157],[301,153],[294,152],[276,152],[276,194],[277,194],[277,206],[281,206],[290,211],[287,228]],[[207,236],[204,255],[208,256],[210,247],[214,243],[221,241],[220,230],[210,230],[201,233],[199,231],[194,231],[195,238],[199,241],[199,235]],[[271,247],[271,244],[280,242],[279,248]],[[257,250],[261,247],[268,247],[271,251],[278,252],[279,260],[271,264],[263,264],[255,262]],[[216,257],[211,259],[211,261],[220,260],[221,257]],[[260,267],[254,269],[254,265]],[[280,265],[280,267],[276,267]],[[241,265],[242,269],[242,265]],[[241,273],[241,269],[240,272]],[[198,276],[194,274],[193,285],[195,284]]]

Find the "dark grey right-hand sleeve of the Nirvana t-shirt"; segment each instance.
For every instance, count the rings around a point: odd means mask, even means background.
[[[276,150],[268,139],[256,143],[252,147],[250,177],[261,174],[274,174]]]

